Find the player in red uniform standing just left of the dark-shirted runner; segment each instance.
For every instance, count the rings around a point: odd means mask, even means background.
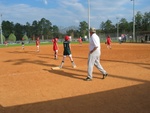
[[[58,59],[58,37],[52,39],[53,42],[53,51],[54,51],[54,59]]]

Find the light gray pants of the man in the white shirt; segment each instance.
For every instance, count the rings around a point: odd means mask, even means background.
[[[94,65],[97,69],[102,73],[106,74],[106,71],[103,69],[102,65],[100,64],[100,55],[93,55],[89,54],[88,57],[88,77],[92,79],[93,67]]]

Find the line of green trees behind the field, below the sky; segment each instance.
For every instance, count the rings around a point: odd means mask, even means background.
[[[116,18],[117,19],[117,18]],[[117,27],[118,26],[118,27]],[[116,24],[111,20],[106,20],[100,23],[97,30],[99,34],[114,34],[116,35],[117,29],[119,33],[129,34],[132,33],[133,21],[128,22],[126,18],[118,19]],[[135,15],[135,29],[136,35],[143,33],[150,33],[150,12],[142,14],[138,11]],[[69,26],[66,28],[52,25],[50,20],[42,18],[40,21],[34,20],[32,24],[27,22],[25,25],[20,23],[13,23],[10,21],[2,21],[3,41],[17,41],[17,40],[35,40],[36,37],[40,39],[52,39],[53,37],[63,38],[65,34],[73,38],[88,36],[88,23],[86,21],[80,22],[79,26]],[[120,34],[119,34],[120,35]],[[1,40],[1,38],[0,38]]]

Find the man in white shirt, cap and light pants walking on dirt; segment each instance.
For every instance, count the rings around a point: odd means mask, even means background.
[[[88,69],[86,81],[92,80],[92,73],[94,65],[103,74],[103,79],[108,75],[100,64],[100,38],[96,34],[95,28],[90,28],[90,39],[89,39],[89,56],[88,56]]]

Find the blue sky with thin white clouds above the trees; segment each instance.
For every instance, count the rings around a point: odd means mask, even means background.
[[[135,14],[150,12],[150,0],[134,0],[134,3]],[[0,14],[2,21],[14,24],[32,24],[45,18],[58,27],[78,27],[82,21],[88,23],[90,17],[90,26],[99,28],[101,22],[108,19],[113,24],[121,18],[131,22],[133,0],[0,0]]]

